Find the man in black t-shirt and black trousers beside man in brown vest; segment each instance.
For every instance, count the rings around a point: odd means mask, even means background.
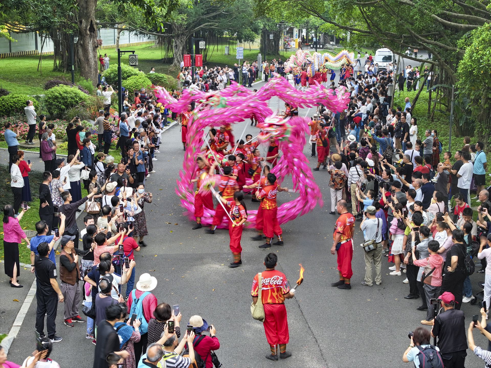
[[[48,337],[51,342],[59,342],[62,339],[55,335],[56,333],[56,295],[59,302],[63,303],[63,294],[61,293],[58,283],[56,282],[56,265],[48,258],[50,246],[48,243],[40,243],[37,247],[37,252],[34,261],[34,270],[36,273],[36,331],[41,336],[44,334],[44,315],[48,315],[46,327],[48,329]]]

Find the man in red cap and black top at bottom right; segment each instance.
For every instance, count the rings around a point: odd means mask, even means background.
[[[462,294],[462,287],[460,292]],[[445,368],[464,367],[467,356],[464,312],[454,308],[456,301],[451,292],[445,291],[437,301],[444,312],[435,317],[431,335],[438,338],[436,345],[440,348],[443,365]]]

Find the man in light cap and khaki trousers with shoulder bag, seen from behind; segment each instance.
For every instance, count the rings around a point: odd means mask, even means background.
[[[382,221],[376,218],[377,209],[368,206],[360,224],[365,242],[361,244],[365,251],[365,281],[361,285],[373,286],[372,262],[375,266],[375,284],[382,284]]]

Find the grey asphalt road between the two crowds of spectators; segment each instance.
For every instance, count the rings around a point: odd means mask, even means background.
[[[257,84],[254,88],[260,87]],[[283,104],[274,98],[273,109]],[[277,107],[278,106],[278,107]],[[304,116],[306,110],[301,110]],[[311,110],[309,116],[313,113]],[[235,126],[238,137],[244,122]],[[246,133],[256,135],[257,128],[247,127]],[[183,209],[174,192],[175,180],[182,167],[183,151],[179,126],[164,134],[162,153],[154,162],[156,174],[147,181],[147,190],[154,194],[154,204],[146,204],[145,212],[150,235],[146,238],[148,247],[136,254],[136,278],[149,272],[157,277],[158,286],[153,291],[159,302],[179,304],[186,325],[191,315],[201,315],[217,328],[221,343],[217,351],[223,367],[402,367],[402,354],[409,339],[408,332],[420,326],[425,312],[416,310],[420,300],[406,300],[409,287],[402,283],[403,276],[390,276],[385,258],[382,261],[382,285],[366,287],[364,278],[363,250],[357,244],[362,241],[361,232],[355,235],[353,259],[354,276],[351,290],[331,288],[337,281],[336,257],[329,248],[336,215],[328,213],[330,206],[328,175],[325,170],[314,172],[319,184],[324,207],[284,225],[284,246],[273,246],[271,250],[259,249],[259,242],[249,240],[255,235],[252,230],[243,234],[243,265],[235,269],[227,267],[231,262],[228,247],[228,232],[218,230],[215,235],[204,230],[191,230],[193,223],[182,215]],[[310,147],[304,154],[315,167],[316,158],[310,158]],[[6,151],[0,152],[6,158]],[[32,155],[31,160],[35,158]],[[36,167],[43,167],[38,159]],[[285,181],[288,185],[288,179]],[[278,194],[278,201],[289,200],[293,193]],[[257,204],[247,200],[249,209]],[[79,218],[79,222],[81,219]],[[359,225],[359,223],[356,223]],[[81,227],[82,224],[79,224]],[[263,326],[251,318],[250,288],[254,275],[262,271],[263,259],[270,251],[278,255],[277,268],[284,272],[293,283],[299,275],[299,263],[305,267],[305,281],[297,290],[296,297],[286,300],[290,343],[287,348],[293,356],[285,361],[271,362],[265,359],[269,353]],[[0,292],[8,291],[8,297],[0,298],[0,331],[8,331],[21,303],[11,302],[26,292],[32,276],[28,270],[21,270],[21,282],[26,287],[14,293],[8,287],[6,276],[2,277]],[[471,276],[474,292],[478,282],[484,281],[483,274]],[[12,307],[11,305],[14,305]],[[8,308],[7,308],[8,306]],[[19,306],[19,307],[18,307]],[[5,309],[4,309],[5,308]],[[17,309],[18,310],[18,309]],[[478,314],[478,308],[464,304],[466,321]],[[9,360],[22,363],[35,347],[34,324],[35,299],[28,309],[20,332],[14,340]],[[61,367],[92,367],[94,345],[85,339],[85,324],[77,323],[67,327],[62,321],[63,306],[58,307],[56,333],[63,338],[56,343],[52,358]],[[476,343],[485,347],[486,339],[474,334]],[[76,363],[75,363],[75,362]],[[467,367],[482,366],[482,361],[468,350]],[[407,365],[407,367],[412,366]]]

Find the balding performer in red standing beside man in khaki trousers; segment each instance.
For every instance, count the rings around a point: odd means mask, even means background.
[[[334,227],[334,242],[331,247],[331,254],[336,254],[337,252],[339,281],[332,283],[331,286],[337,286],[338,289],[351,289],[355,216],[348,212],[348,203],[343,199],[338,201],[336,210],[340,216]]]

